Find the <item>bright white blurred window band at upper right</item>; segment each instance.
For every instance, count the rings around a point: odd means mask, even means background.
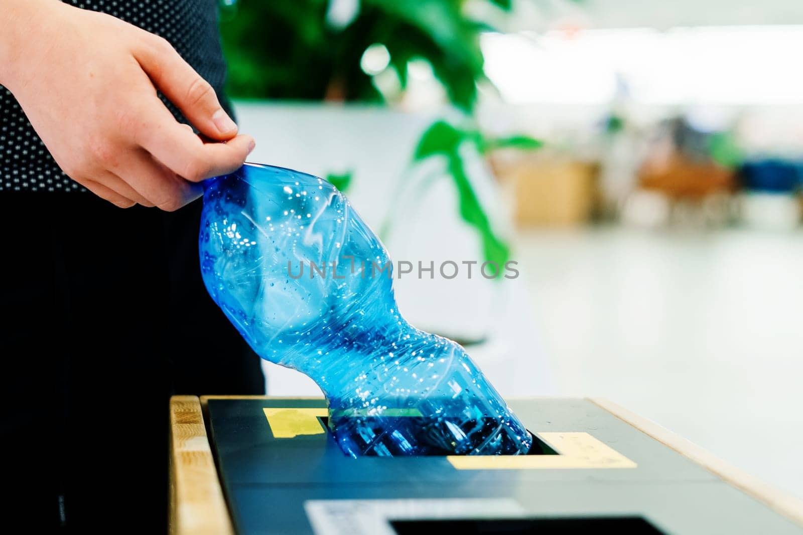
[[[485,71],[510,103],[803,103],[803,26],[484,34]]]

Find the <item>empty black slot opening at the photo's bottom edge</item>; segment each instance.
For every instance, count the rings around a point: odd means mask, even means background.
[[[461,518],[441,520],[392,520],[397,535],[420,533],[538,533],[539,535],[588,535],[589,529],[617,535],[663,535],[642,517],[573,518]]]

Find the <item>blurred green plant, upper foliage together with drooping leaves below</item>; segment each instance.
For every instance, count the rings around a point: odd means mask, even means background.
[[[382,102],[373,83],[377,73],[362,65],[366,51],[378,45],[387,53],[382,70],[393,69],[402,89],[408,83],[408,65],[426,60],[450,103],[471,116],[477,83],[490,84],[480,35],[494,30],[490,18],[511,9],[512,0],[223,0],[227,91],[239,99]],[[487,19],[478,19],[478,13]],[[479,130],[438,121],[424,132],[414,154],[414,161],[446,156],[460,216],[479,233],[485,259],[503,265],[510,249],[471,187],[459,150],[464,142],[485,154],[495,148],[532,150],[540,141],[528,136],[491,139]],[[330,174],[327,180],[344,190],[351,172]]]

